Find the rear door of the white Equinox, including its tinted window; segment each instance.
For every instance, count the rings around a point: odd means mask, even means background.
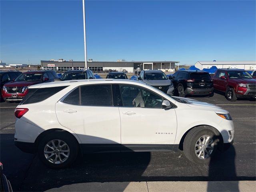
[[[112,86],[79,86],[56,103],[59,123],[80,138],[85,152],[120,151],[120,116]]]

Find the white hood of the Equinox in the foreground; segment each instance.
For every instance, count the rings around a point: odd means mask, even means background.
[[[189,106],[189,107],[204,109],[204,110],[214,110],[216,112],[220,112],[220,113],[223,113],[223,114],[228,113],[227,110],[222,109],[220,106],[217,106],[217,105],[214,105],[214,104],[211,104],[211,103],[208,103],[208,102],[202,102],[202,101],[183,98],[183,97],[175,97],[175,96],[172,96],[172,97],[186,101],[187,102],[186,105]]]

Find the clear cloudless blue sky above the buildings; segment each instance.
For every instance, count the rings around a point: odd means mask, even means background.
[[[256,1],[86,0],[88,58],[256,60]],[[82,0],[0,0],[0,60],[84,60]]]

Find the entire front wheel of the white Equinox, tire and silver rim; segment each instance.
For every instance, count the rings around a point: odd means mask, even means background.
[[[183,148],[188,160],[196,164],[207,164],[217,150],[218,138],[211,128],[200,126],[185,137]]]

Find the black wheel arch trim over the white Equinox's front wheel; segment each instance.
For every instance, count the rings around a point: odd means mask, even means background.
[[[197,127],[200,127],[200,126],[205,127],[205,128],[210,128],[210,129],[216,134],[217,138],[219,139],[218,149],[219,149],[219,150],[222,150],[223,143],[224,143],[224,142],[223,142],[222,134],[219,132],[218,129],[216,129],[216,128],[214,128],[213,126],[210,126],[210,125],[197,125],[197,126],[194,126],[194,127],[190,128],[189,130],[187,130],[187,131],[183,134],[183,136],[182,136],[182,138],[181,138],[181,140],[180,140],[180,143],[179,143],[179,147],[178,147],[178,148],[179,148],[180,150],[183,150],[183,143],[184,143],[184,140],[185,140],[187,134],[188,134],[192,129],[197,128]]]

